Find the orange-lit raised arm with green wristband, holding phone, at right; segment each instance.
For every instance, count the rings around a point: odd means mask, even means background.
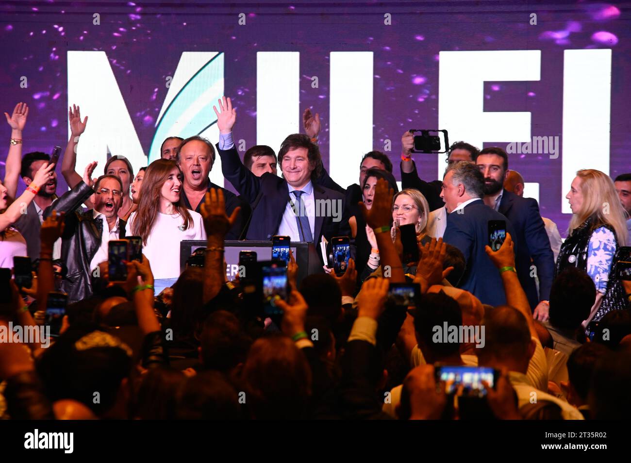
[[[506,239],[497,251],[493,252],[488,245],[485,246],[484,250],[487,252],[489,259],[495,264],[495,267],[500,271],[504,292],[506,293],[506,303],[524,314],[526,321],[528,321],[530,335],[538,338],[537,330],[534,327],[533,314],[530,312],[528,297],[526,297],[524,288],[519,283],[519,277],[515,269],[515,250],[510,233],[506,233]]]

